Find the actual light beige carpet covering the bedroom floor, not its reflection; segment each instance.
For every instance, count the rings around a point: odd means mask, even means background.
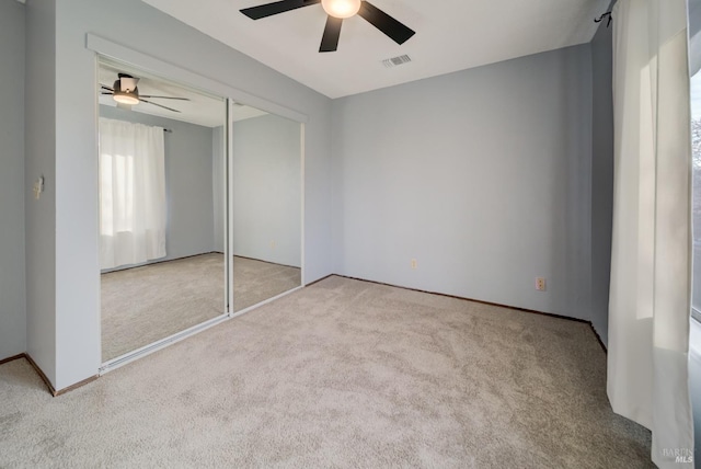
[[[645,468],[587,324],[330,277],[51,398],[0,366],[0,467]]]

